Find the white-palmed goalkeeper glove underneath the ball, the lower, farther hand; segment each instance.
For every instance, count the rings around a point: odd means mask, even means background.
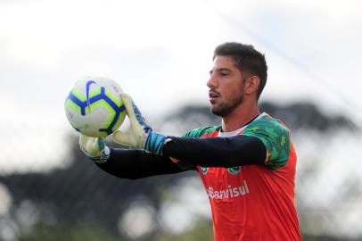
[[[86,137],[83,134],[79,135],[80,150],[86,156],[98,163],[106,162],[110,158],[111,150],[105,145],[105,139],[101,137]]]

